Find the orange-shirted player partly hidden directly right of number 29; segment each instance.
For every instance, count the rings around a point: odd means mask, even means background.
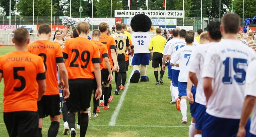
[[[92,41],[99,46],[100,49],[100,70],[101,70],[101,80],[104,83],[104,108],[103,109],[108,109],[109,105],[108,105],[108,99],[110,98],[110,91],[109,91],[109,82],[112,81],[113,79],[113,75],[112,75],[112,71],[111,71],[111,67],[110,67],[110,63],[108,60],[108,49],[107,49],[107,45],[101,43],[100,41],[100,31],[99,30],[94,30],[92,32]],[[103,64],[102,62],[105,62],[105,65],[107,66],[107,69],[103,68]],[[95,100],[95,99],[94,99]],[[97,116],[96,115],[96,108],[97,106],[99,106],[99,101],[93,101],[93,115],[92,116]],[[96,107],[96,108],[95,108]],[[99,110],[99,108],[98,108]]]

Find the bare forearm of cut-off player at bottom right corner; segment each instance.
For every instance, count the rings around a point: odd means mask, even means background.
[[[237,132],[237,137],[244,137],[245,136],[245,125],[249,119],[250,114],[252,113],[254,104],[256,101],[255,96],[249,96],[247,95],[244,99],[244,105],[242,110],[242,115],[239,123],[239,129]]]

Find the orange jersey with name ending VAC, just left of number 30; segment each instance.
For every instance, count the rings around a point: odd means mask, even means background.
[[[108,48],[108,60],[109,60],[109,63],[110,63],[110,67],[113,68],[113,59],[112,59],[112,56],[111,56],[111,49],[116,49],[116,41],[113,37],[110,37],[108,35],[100,35],[100,42],[107,45],[107,48]],[[103,68],[106,69],[107,66],[105,64],[105,61],[103,60],[102,62],[103,64]]]

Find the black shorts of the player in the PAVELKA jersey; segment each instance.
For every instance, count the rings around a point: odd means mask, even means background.
[[[60,115],[60,95],[44,95],[37,102],[39,118],[45,118],[50,115],[52,118]]]

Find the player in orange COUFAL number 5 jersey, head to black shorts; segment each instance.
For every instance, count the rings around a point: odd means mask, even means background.
[[[37,101],[44,95],[45,68],[42,58],[27,51],[26,28],[14,31],[15,51],[0,56],[0,81],[4,77],[4,123],[10,137],[36,137]]]

